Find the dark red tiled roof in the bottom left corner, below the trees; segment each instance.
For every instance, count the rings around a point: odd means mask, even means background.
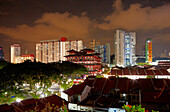
[[[21,99],[20,99],[21,100]],[[51,95],[41,99],[25,99],[16,101],[11,105],[0,105],[0,112],[60,112],[61,107],[65,106],[67,109],[67,101],[57,95]],[[50,110],[51,109],[51,110]]]

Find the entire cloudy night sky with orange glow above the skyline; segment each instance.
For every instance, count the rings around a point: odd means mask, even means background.
[[[10,45],[35,54],[41,40],[92,39],[111,43],[115,29],[135,31],[137,54],[146,38],[153,40],[153,55],[170,52],[169,0],[0,0],[0,46],[9,60]]]

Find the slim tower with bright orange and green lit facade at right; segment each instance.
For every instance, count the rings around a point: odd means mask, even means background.
[[[148,38],[145,43],[145,62],[152,63],[152,39]]]

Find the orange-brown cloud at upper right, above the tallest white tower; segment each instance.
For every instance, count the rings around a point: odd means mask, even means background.
[[[98,25],[100,29],[160,30],[170,26],[170,4],[156,8],[132,4],[129,9],[123,10],[121,0],[117,0],[113,7],[116,11],[104,18],[105,23]]]

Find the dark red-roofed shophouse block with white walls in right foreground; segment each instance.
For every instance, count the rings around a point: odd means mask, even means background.
[[[82,86],[83,85],[83,86]],[[89,89],[87,89],[88,87]],[[122,105],[142,105],[151,111],[169,111],[169,79],[96,78],[89,76],[84,83],[63,91],[69,110],[125,112]],[[84,99],[81,96],[86,93]],[[71,95],[70,95],[71,94]],[[61,97],[65,100],[69,97]]]

